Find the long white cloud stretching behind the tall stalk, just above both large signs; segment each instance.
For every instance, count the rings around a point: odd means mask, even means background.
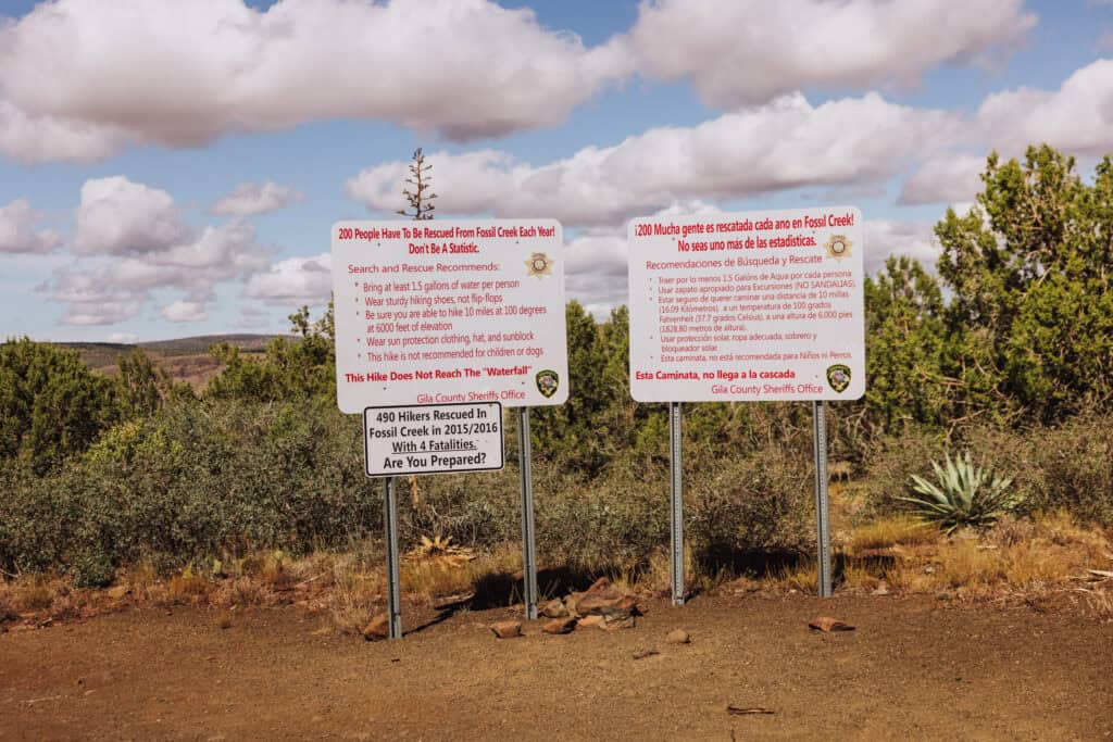
[[[878,181],[940,151],[961,130],[957,116],[896,106],[875,93],[820,106],[794,95],[697,127],[588,147],[541,167],[495,150],[431,154],[427,161],[439,212],[615,225],[693,198]],[[391,212],[402,206],[406,167],[367,168],[347,181],[348,195]]]

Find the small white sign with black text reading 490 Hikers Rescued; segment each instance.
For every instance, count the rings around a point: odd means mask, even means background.
[[[503,466],[502,405],[367,407],[367,476],[487,472]]]

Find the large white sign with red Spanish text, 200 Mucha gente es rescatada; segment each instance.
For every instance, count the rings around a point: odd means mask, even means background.
[[[863,243],[851,207],[631,221],[633,398],[859,398]]]

